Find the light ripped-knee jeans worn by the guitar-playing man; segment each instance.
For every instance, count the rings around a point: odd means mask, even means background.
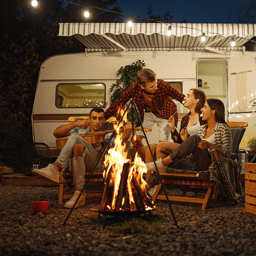
[[[81,143],[84,146],[83,155],[77,159],[72,156],[73,147],[76,143]],[[92,145],[83,139],[79,134],[72,133],[69,135],[65,146],[62,148],[60,155],[56,159],[55,163],[61,168],[65,167],[69,162],[69,167],[71,168],[74,189],[82,191],[84,186],[84,173],[85,169],[91,171],[94,169],[96,162],[101,156],[102,151],[97,151]],[[95,170],[103,169],[104,157],[101,158],[99,164],[96,166]],[[85,167],[86,166],[86,167]]]

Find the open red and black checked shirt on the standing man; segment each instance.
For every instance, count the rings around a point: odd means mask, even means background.
[[[182,102],[185,95],[179,93],[176,89],[174,89],[168,82],[165,82],[161,79],[157,79],[157,90],[155,91],[152,97],[152,103],[155,104],[157,112],[162,114],[166,118],[169,118],[177,111],[176,104],[172,101],[171,98]],[[136,81],[132,83],[129,88],[123,93],[120,99],[110,106],[105,112],[106,120],[113,116],[117,112],[117,107],[123,107],[127,101],[131,98],[134,99],[137,108],[140,113],[141,121],[144,120],[144,96],[142,93],[142,88],[139,85],[139,82]],[[178,123],[178,114],[176,113],[174,116],[175,126]]]

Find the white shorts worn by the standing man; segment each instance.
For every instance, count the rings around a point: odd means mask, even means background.
[[[170,127],[168,125],[168,120],[158,118],[151,112],[144,112],[144,120],[142,123],[143,128],[151,128],[154,124],[157,124],[159,141],[170,141]],[[141,127],[141,126],[140,126]],[[146,136],[150,135],[150,131],[145,132]],[[142,135],[144,137],[143,131],[134,131],[134,135]]]

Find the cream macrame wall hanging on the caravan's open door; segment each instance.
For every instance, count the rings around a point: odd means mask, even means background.
[[[247,71],[237,73],[238,107],[244,112],[247,108]]]

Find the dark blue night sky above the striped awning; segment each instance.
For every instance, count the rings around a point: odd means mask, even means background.
[[[148,7],[153,9],[152,15],[164,16],[169,11],[172,22],[179,23],[185,19],[187,23],[238,23],[232,18],[229,22],[231,6],[248,4],[250,0],[118,0],[123,13],[140,15],[148,18]]]

